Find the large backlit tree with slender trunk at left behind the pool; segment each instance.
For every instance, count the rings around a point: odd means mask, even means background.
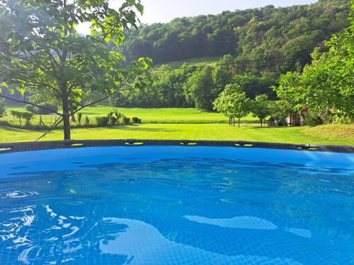
[[[1,86],[60,100],[62,113],[48,111],[60,116],[53,126],[63,122],[69,140],[69,117],[95,103],[83,104],[87,94],[102,93],[100,102],[149,66],[142,58],[124,66],[122,54],[107,49],[110,41],[122,43],[124,29],[137,27],[135,11],[143,11],[140,0],[126,0],[118,10],[108,0],[0,0]],[[75,28],[85,22],[91,23],[91,35],[81,36]]]

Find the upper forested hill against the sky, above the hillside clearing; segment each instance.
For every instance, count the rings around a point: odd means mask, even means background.
[[[121,49],[128,61],[151,57],[155,64],[232,54],[245,71],[284,73],[309,63],[314,47],[347,27],[349,8],[349,0],[320,0],[176,18],[130,30]]]

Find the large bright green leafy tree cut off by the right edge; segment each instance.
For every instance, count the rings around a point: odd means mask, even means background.
[[[329,113],[354,118],[354,20],[351,22],[343,33],[326,42],[328,52],[314,49],[312,64],[305,66],[302,73],[288,72],[280,77],[276,93],[292,105],[295,103],[295,110],[306,106],[324,120]]]

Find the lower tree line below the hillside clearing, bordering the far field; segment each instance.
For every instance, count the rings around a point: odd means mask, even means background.
[[[117,107],[198,107],[212,110],[212,103],[227,84],[233,83],[244,90],[248,98],[267,94],[275,99],[271,86],[278,85],[273,73],[255,76],[251,73],[236,73],[231,55],[225,55],[215,64],[218,66],[190,66],[183,64],[178,69],[162,65],[157,71],[139,76],[132,87],[110,98],[110,105]],[[137,83],[141,82],[140,86]]]

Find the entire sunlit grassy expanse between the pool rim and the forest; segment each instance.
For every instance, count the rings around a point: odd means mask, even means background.
[[[16,107],[7,109],[7,116],[0,121],[10,124],[13,119],[11,110],[25,111]],[[105,116],[113,107],[89,107],[82,110],[83,117],[96,122],[96,117]],[[126,117],[139,117],[142,124],[119,125],[112,127],[89,127],[72,129],[72,139],[190,139],[190,140],[234,140],[264,141],[275,143],[312,143],[354,145],[353,124],[331,124],[324,126],[301,127],[261,127],[258,119],[251,114],[242,119],[241,127],[229,126],[228,119],[217,112],[205,112],[198,109],[141,109],[118,108]],[[42,115],[45,124],[55,121],[55,115]],[[83,118],[84,119],[84,118]],[[39,115],[35,115],[31,124],[38,124]],[[25,121],[22,121],[24,124]],[[83,122],[81,122],[83,123]],[[76,126],[76,123],[73,123]],[[0,125],[0,142],[34,141],[45,132],[45,129],[24,129]],[[62,140],[62,130],[56,129],[42,138],[42,141]]]

